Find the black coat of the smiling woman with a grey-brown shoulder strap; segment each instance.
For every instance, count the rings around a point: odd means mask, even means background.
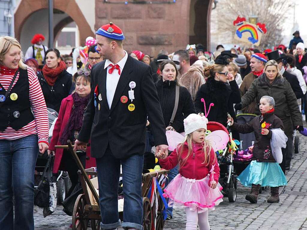
[[[163,82],[163,80],[160,79],[155,83],[155,86],[157,88],[157,93],[163,113],[164,124],[165,127],[167,127],[169,126],[169,122],[171,120],[175,106],[176,81],[167,80]],[[178,109],[171,126],[177,132],[184,132],[185,130],[183,119],[185,119],[191,113],[196,113],[192,96],[185,87],[180,86]]]

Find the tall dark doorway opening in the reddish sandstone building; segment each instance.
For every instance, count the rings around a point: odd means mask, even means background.
[[[191,0],[189,44],[201,43],[210,50],[210,19],[213,0]]]

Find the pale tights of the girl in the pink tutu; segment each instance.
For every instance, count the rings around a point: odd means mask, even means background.
[[[191,211],[189,208],[185,208],[185,213],[187,215],[185,230],[196,230],[197,224],[199,230],[210,230],[208,210],[203,213],[197,213],[197,210]]]

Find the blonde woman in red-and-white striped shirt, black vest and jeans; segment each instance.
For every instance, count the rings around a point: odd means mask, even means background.
[[[0,229],[34,229],[34,168],[48,133],[37,76],[23,64],[18,41],[0,37]]]

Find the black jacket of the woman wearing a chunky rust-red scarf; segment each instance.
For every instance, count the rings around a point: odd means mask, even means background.
[[[41,84],[47,108],[59,112],[62,100],[69,95],[72,86],[72,75],[64,70],[56,79],[54,86],[48,85],[43,76],[43,71],[37,75],[37,78]]]

